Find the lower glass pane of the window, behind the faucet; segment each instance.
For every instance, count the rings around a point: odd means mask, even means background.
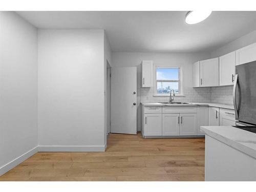
[[[157,94],[169,94],[170,90],[179,94],[179,82],[157,82]]]

